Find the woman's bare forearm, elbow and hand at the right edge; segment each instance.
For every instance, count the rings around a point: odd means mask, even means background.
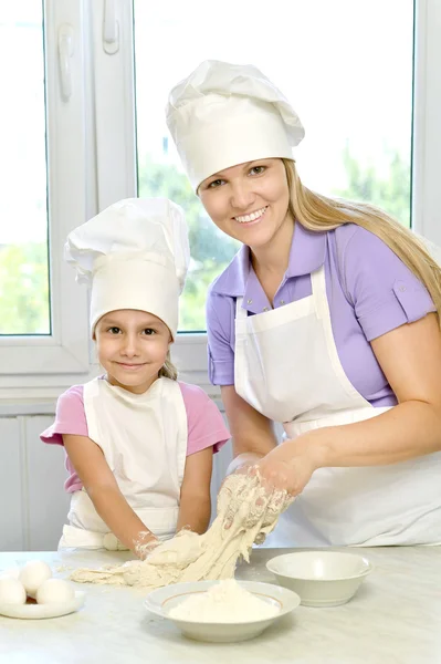
[[[370,419],[287,440],[260,464],[298,494],[316,468],[396,464],[441,449],[441,334],[434,313],[371,342],[398,405]]]

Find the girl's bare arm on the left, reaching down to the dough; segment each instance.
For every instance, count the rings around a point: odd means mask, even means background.
[[[124,498],[104,454],[91,438],[63,434],[63,443],[88,497],[103,521],[136,556],[136,544],[156,540]],[[143,533],[147,532],[147,536]]]

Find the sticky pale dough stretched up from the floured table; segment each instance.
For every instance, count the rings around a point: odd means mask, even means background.
[[[230,475],[219,492],[218,516],[204,535],[181,530],[144,561],[78,569],[70,578],[80,583],[140,585],[148,590],[187,581],[232,579],[239,557],[250,562],[253,542],[261,542],[274,530],[279,516],[292,501],[286,491],[269,495],[256,475]]]

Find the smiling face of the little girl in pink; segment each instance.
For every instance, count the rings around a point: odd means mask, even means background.
[[[111,311],[95,328],[101,365],[112,385],[143,394],[157,380],[171,343],[170,331],[153,313]]]

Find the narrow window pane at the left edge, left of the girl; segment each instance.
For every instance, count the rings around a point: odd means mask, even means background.
[[[50,334],[41,0],[0,1],[0,334]]]

